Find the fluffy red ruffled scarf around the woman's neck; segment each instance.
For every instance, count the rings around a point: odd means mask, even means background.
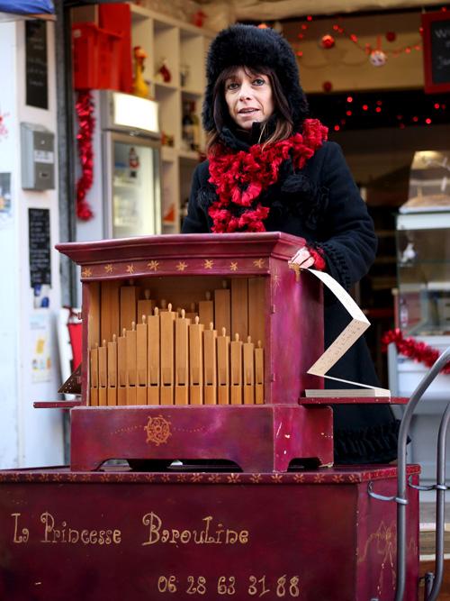
[[[218,200],[208,209],[211,231],[266,232],[263,221],[270,207],[257,201],[267,187],[275,184],[282,162],[290,156],[296,169],[304,167],[328,137],[328,128],[317,119],[306,119],[302,133],[263,148],[255,144],[247,150],[231,153],[216,147],[210,159],[209,181],[216,187]]]

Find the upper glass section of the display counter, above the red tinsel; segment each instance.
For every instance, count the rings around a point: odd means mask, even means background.
[[[397,216],[398,317],[404,334],[450,334],[450,152],[416,152]]]

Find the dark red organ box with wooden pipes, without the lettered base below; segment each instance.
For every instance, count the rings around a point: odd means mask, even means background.
[[[151,236],[58,245],[81,266],[82,401],[71,467],[104,460],[231,460],[285,471],[331,464],[321,288],[284,233]]]

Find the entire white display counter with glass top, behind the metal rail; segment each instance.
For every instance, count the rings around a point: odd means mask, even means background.
[[[404,338],[445,351],[450,345],[450,151],[414,154],[409,200],[397,215],[396,243],[397,325]],[[411,396],[428,367],[401,354],[392,343],[388,371],[392,394]],[[450,376],[440,374],[411,421],[408,460],[421,465],[424,485],[436,481],[435,441],[449,390]]]

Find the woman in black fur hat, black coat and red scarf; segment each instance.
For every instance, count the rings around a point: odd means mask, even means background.
[[[307,119],[289,44],[272,29],[233,25],[211,43],[207,78],[208,160],[193,174],[183,232],[301,236],[307,246],[293,262],[326,269],[348,289],[374,261],[374,225],[338,144],[327,141],[319,121]],[[347,321],[326,293],[326,347]],[[377,385],[364,339],[329,375]],[[336,463],[396,457],[398,423],[388,405],[335,406],[334,426]]]

